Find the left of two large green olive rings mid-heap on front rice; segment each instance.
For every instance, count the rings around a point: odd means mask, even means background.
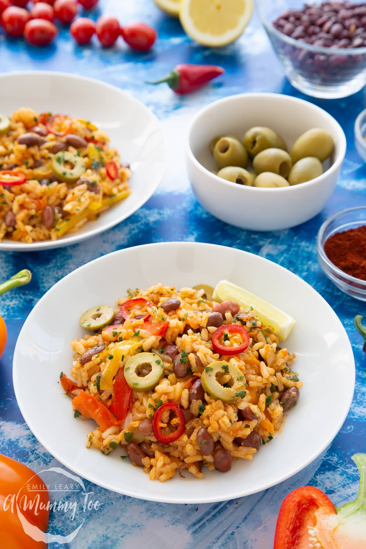
[[[164,363],[152,352],[140,352],[127,360],[123,372],[132,389],[147,393],[164,377]]]

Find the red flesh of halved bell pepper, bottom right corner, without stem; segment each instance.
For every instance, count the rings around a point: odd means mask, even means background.
[[[319,509],[323,517],[336,513],[329,497],[314,486],[302,486],[286,496],[278,514],[273,549],[308,548],[311,543],[308,530],[317,525]]]

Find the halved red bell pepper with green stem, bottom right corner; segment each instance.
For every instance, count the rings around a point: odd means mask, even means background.
[[[322,490],[297,488],[281,504],[273,549],[366,548],[366,454],[352,460],[360,474],[356,500],[336,508]]]

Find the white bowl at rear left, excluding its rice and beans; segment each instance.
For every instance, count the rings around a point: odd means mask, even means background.
[[[117,225],[155,192],[165,172],[165,139],[156,116],[129,93],[86,77],[59,72],[17,72],[0,75],[1,112],[20,107],[65,113],[91,120],[108,133],[110,146],[131,164],[131,195],[89,221],[76,233],[55,241],[26,244],[4,238],[1,250],[33,251],[75,244]]]

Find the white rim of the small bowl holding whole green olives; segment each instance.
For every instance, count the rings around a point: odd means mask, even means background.
[[[313,108],[314,110],[317,110],[319,112],[322,112],[323,114],[325,114],[326,116],[328,116],[331,120],[333,120],[339,130],[339,135],[340,135],[340,150],[339,150],[339,153],[337,154],[337,157],[334,161],[334,163],[330,166],[330,168],[328,170],[326,170],[326,172],[322,173],[322,175],[312,179],[311,181],[306,181],[305,183],[301,183],[301,185],[290,185],[290,187],[278,187],[278,188],[271,188],[271,187],[266,187],[266,188],[262,188],[262,187],[249,187],[247,185],[242,185],[241,187],[243,188],[243,194],[245,193],[296,193],[298,191],[296,191],[297,188],[299,187],[304,187],[304,186],[307,186],[307,187],[311,187],[311,186],[316,186],[318,183],[321,183],[322,182],[322,178],[324,177],[324,175],[333,175],[333,172],[335,172],[336,170],[339,169],[339,167],[341,166],[342,162],[344,161],[344,158],[345,158],[345,155],[346,155],[346,149],[347,149],[347,139],[346,139],[346,136],[345,136],[345,132],[342,130],[342,127],[340,126],[339,122],[336,121],[336,119],[331,116],[329,113],[326,112],[326,110],[324,109],[321,109],[320,107],[318,107],[317,105],[314,105],[313,103],[310,103],[309,101],[306,101],[305,99],[299,99],[297,97],[292,97],[292,96],[286,96],[284,94],[281,94],[281,93],[238,93],[237,95],[234,95],[234,96],[229,96],[229,97],[224,97],[223,99],[218,99],[217,101],[213,102],[213,103],[210,103],[209,105],[207,105],[207,107],[204,107],[203,109],[201,109],[193,118],[192,122],[190,123],[189,125],[189,130],[188,130],[188,137],[187,137],[187,141],[186,141],[186,153],[188,155],[188,158],[191,162],[193,162],[193,164],[198,167],[198,169],[200,170],[203,170],[204,173],[206,173],[206,175],[210,175],[210,177],[212,178],[215,178],[215,180],[217,181],[220,181],[222,183],[222,185],[224,187],[232,187],[232,188],[237,188],[238,187],[238,183],[233,183],[232,181],[227,181],[225,179],[223,179],[222,177],[218,177],[217,175],[215,175],[215,173],[212,173],[210,170],[207,170],[207,168],[205,168],[205,166],[202,166],[202,164],[199,163],[199,161],[196,159],[195,155],[193,154],[192,152],[192,149],[190,148],[190,138],[191,138],[191,133],[192,133],[192,129],[193,129],[193,126],[196,124],[196,122],[200,119],[200,117],[202,115],[204,115],[205,113],[207,113],[207,111],[210,111],[210,110],[213,110],[215,109],[218,105],[221,105],[223,103],[229,103],[230,101],[234,100],[234,99],[237,99],[237,98],[246,98],[246,97],[261,97],[263,99],[266,99],[266,98],[276,98],[276,99],[279,99],[279,100],[288,100],[289,102],[292,102],[294,104],[297,104],[297,105],[302,105],[303,103],[306,103],[308,105],[311,106],[311,108]],[[285,197],[284,197],[285,198]]]

